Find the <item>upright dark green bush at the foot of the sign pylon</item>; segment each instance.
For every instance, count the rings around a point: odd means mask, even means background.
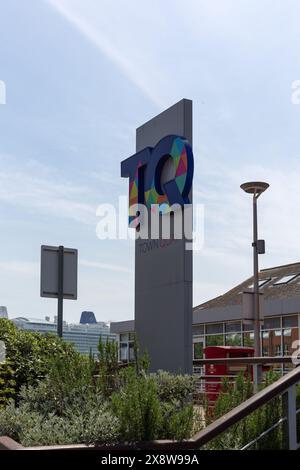
[[[137,375],[132,367],[123,375],[124,385],[113,394],[111,406],[119,418],[124,440],[183,439],[191,435],[193,405],[185,403],[180,379],[177,383],[176,376],[165,376],[162,372],[157,376]],[[160,392],[158,383],[162,384]],[[168,384],[178,385],[177,397],[172,397]]]

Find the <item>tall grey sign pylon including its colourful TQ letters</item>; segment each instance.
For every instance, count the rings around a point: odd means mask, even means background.
[[[121,175],[129,177],[129,204],[149,207],[145,223],[152,203],[192,211],[192,101],[179,101],[136,130],[136,154],[122,162]],[[152,371],[192,373],[193,258],[186,249],[192,217],[185,220],[180,212],[173,214],[171,237],[160,230],[146,239],[137,232],[135,240],[135,332]],[[129,214],[131,221],[136,214]],[[179,217],[180,239],[174,238]]]

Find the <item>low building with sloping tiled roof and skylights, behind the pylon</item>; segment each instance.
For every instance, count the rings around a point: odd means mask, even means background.
[[[264,298],[262,354],[291,355],[294,342],[300,338],[300,263],[262,269],[259,286]],[[193,308],[193,359],[203,358],[206,346],[254,345],[253,323],[243,321],[242,310],[242,294],[252,288],[250,277],[224,295]],[[132,360],[134,321],[112,323],[111,331],[117,334],[120,360]]]

